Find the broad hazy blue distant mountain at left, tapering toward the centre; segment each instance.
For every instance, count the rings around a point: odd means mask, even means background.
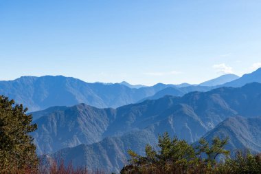
[[[16,80],[0,81],[0,94],[23,103],[30,111],[79,103],[99,108],[120,107],[152,96],[164,88],[164,85],[155,85],[134,89],[118,83],[85,83],[64,76],[23,76]]]

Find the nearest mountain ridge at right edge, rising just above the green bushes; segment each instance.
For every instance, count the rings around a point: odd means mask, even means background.
[[[234,155],[235,150],[250,150],[251,153],[261,151],[261,115],[254,118],[235,116],[220,122],[209,131],[204,138],[210,142],[213,137],[229,137],[225,146]]]

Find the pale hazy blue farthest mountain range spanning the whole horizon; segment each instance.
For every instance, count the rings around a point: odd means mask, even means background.
[[[233,80],[231,83],[225,83],[223,86],[242,86],[246,83],[259,82],[260,72],[253,72]],[[212,84],[224,83],[236,78],[235,75],[225,75],[214,80]],[[38,111],[54,106],[73,106],[79,103],[85,103],[93,107],[117,108],[135,102],[141,102],[147,99],[158,99],[166,95],[183,96],[190,91],[209,91],[218,86],[190,85],[183,83],[180,85],[166,85],[159,83],[152,87],[143,85],[130,85],[122,83],[86,83],[77,78],[65,76],[22,76],[16,80],[0,81],[0,94],[8,96],[23,103],[29,111]]]

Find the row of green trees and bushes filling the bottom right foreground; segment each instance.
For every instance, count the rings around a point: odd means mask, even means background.
[[[164,133],[159,136],[157,150],[147,145],[145,156],[128,151],[130,164],[122,168],[121,173],[260,173],[261,155],[238,151],[230,158],[229,151],[224,149],[228,140],[215,137],[209,144],[201,138],[198,146],[192,146]],[[224,160],[217,162],[218,155],[225,156]]]

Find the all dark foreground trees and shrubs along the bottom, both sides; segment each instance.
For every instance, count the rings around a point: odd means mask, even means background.
[[[104,173],[76,168],[59,162],[44,163],[36,155],[36,146],[29,133],[37,129],[32,116],[26,115],[23,105],[0,96],[0,173],[89,174]],[[237,151],[230,156],[224,149],[228,138],[214,138],[212,143],[201,139],[191,145],[184,140],[159,136],[154,149],[147,145],[144,156],[129,151],[131,160],[121,173],[261,173],[261,155]]]

